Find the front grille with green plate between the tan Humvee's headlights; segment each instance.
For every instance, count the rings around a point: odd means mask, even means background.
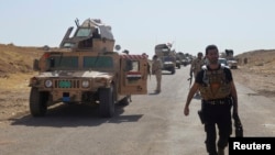
[[[62,80],[54,80],[54,88],[79,88],[80,81],[78,79],[62,79]]]

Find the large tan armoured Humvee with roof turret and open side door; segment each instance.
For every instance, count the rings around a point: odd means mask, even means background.
[[[128,104],[131,95],[147,93],[147,57],[113,52],[111,26],[87,19],[70,37],[69,27],[57,49],[34,59],[38,74],[30,79],[30,111],[43,117],[55,103],[91,103],[110,118],[114,104]],[[116,47],[120,47],[116,45]],[[118,49],[119,51],[119,49]]]

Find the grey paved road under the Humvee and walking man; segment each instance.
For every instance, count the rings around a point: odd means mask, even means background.
[[[207,155],[205,132],[194,99],[190,115],[183,114],[189,89],[189,67],[175,75],[164,73],[163,91],[153,95],[155,78],[148,80],[147,96],[133,96],[127,107],[117,106],[116,117],[98,118],[86,106],[59,106],[45,118],[30,114],[0,128],[1,155]],[[244,136],[275,136],[275,104],[237,84]]]

